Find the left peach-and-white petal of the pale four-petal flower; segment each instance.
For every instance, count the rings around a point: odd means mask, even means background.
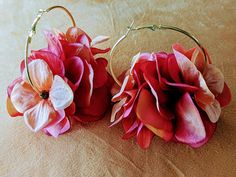
[[[15,85],[10,99],[15,109],[20,113],[24,113],[26,110],[34,107],[41,100],[39,94],[26,82]]]

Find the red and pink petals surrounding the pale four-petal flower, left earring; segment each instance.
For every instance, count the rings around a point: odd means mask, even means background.
[[[65,109],[66,117],[83,122],[102,118],[110,106],[111,78],[106,71],[106,59],[96,57],[96,55],[106,53],[110,49],[102,50],[94,46],[106,41],[108,37],[98,36],[91,40],[84,31],[75,27],[69,28],[66,34],[59,32],[55,35],[46,31],[45,36],[48,47],[32,51],[29,57],[29,65],[32,61],[43,60],[53,76],[60,76],[68,83],[74,93],[74,99]],[[22,76],[24,75],[24,68],[22,61]],[[12,117],[21,116],[24,113],[16,109],[11,98],[12,90],[21,82],[22,77],[16,79],[8,87],[7,107]],[[60,124],[54,127],[40,126],[37,130],[43,128],[45,133],[58,136],[67,131],[68,127],[70,127],[69,121],[62,120]]]

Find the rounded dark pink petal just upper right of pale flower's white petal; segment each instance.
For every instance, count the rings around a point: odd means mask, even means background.
[[[84,63],[79,57],[72,57],[65,60],[66,77],[74,84],[76,89],[79,87],[84,74]]]

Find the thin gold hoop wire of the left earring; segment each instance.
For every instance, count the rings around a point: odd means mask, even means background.
[[[67,9],[66,9],[65,7],[63,7],[63,6],[52,6],[52,7],[49,7],[49,8],[47,8],[47,9],[44,9],[44,10],[43,10],[43,9],[40,9],[40,10],[38,11],[38,14],[37,14],[36,18],[34,19],[32,25],[31,25],[29,34],[28,34],[28,36],[27,36],[27,38],[26,38],[26,44],[25,44],[25,59],[24,59],[24,61],[25,61],[25,68],[26,68],[26,73],[27,73],[27,79],[28,79],[28,81],[29,81],[29,83],[30,83],[30,85],[31,85],[32,87],[34,87],[34,84],[33,84],[32,80],[31,80],[30,73],[29,73],[29,66],[28,66],[29,44],[31,43],[33,36],[36,34],[36,27],[37,27],[37,24],[38,24],[39,20],[41,19],[41,17],[42,17],[44,14],[46,14],[46,13],[48,13],[48,12],[50,12],[51,10],[54,10],[54,9],[61,9],[61,10],[65,11],[66,14],[70,17],[70,19],[71,19],[71,21],[72,21],[72,25],[73,25],[74,27],[76,27],[75,20],[74,20],[73,16],[71,15],[70,11],[67,10]]]

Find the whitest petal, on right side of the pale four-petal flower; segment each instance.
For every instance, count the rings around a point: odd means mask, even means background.
[[[55,110],[64,110],[71,105],[74,95],[69,85],[56,75],[49,92],[49,98]]]

